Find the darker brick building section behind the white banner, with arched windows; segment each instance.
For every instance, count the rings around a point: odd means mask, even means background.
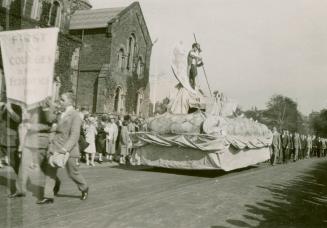
[[[60,92],[76,90],[82,42],[69,34],[69,22],[76,10],[90,8],[88,0],[0,0],[0,31],[54,26],[60,29],[54,75],[55,97]]]

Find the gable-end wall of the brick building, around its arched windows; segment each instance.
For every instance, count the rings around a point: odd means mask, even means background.
[[[107,78],[110,88],[104,87],[105,84],[99,84],[99,91],[106,90],[107,97],[104,100],[104,107],[110,107],[110,112],[117,113],[115,110],[115,93],[118,87],[122,93],[122,109],[118,113],[136,114],[137,97],[141,94],[142,102],[139,108],[139,115],[147,116],[149,113],[149,65],[151,56],[151,40],[146,34],[146,24],[141,18],[140,7],[130,7],[126,13],[113,21],[109,26],[109,36],[111,37],[111,62]],[[131,67],[126,67],[127,58],[125,56],[125,67],[119,67],[118,53],[122,48],[124,53],[128,53],[129,38],[133,36],[136,41],[134,49],[134,58]],[[141,75],[137,74],[138,59],[142,59],[143,71]]]

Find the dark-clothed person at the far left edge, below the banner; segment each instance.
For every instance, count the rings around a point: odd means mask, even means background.
[[[22,120],[20,106],[9,102],[0,104],[0,154],[8,158],[9,165],[18,174],[20,154],[18,152],[18,126]]]

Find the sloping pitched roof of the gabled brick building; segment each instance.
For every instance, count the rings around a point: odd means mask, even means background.
[[[126,7],[77,10],[71,17],[70,30],[106,28],[108,22],[117,16]]]

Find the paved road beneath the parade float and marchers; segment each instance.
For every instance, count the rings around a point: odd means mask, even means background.
[[[9,200],[0,171],[0,227],[327,227],[327,159],[220,171],[82,168],[90,197],[81,202],[64,172],[53,205]]]

